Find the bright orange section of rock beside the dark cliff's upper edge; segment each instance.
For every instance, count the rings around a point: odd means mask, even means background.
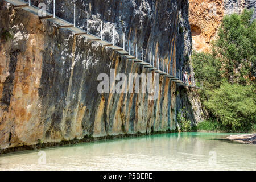
[[[196,51],[210,52],[210,42],[224,16],[224,0],[189,0],[189,23],[192,47]]]

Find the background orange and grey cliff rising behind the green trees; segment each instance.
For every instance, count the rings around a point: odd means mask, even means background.
[[[254,8],[254,0],[189,0],[189,22],[191,23],[193,49],[210,52],[210,42],[216,38],[224,15],[242,13]]]

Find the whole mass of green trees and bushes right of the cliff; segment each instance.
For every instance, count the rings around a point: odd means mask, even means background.
[[[193,52],[200,98],[208,110],[201,130],[250,131],[256,125],[256,20],[253,11],[225,16],[212,53]]]

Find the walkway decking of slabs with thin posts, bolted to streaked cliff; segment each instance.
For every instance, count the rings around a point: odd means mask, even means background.
[[[30,0],[28,0],[28,2],[22,1],[22,0],[5,0],[11,4],[13,4],[15,6],[16,9],[24,9],[26,11],[29,11],[32,14],[38,15],[38,11],[40,10],[38,7],[31,5]],[[55,7],[55,1],[53,0],[53,7]],[[53,23],[56,23],[60,28],[67,28],[68,30],[74,32],[76,35],[79,36],[84,36],[84,38],[88,39],[89,41],[95,41],[98,42],[100,44],[102,44],[105,47],[109,47],[111,49],[113,49],[114,51],[118,52],[118,54],[120,56],[125,56],[127,57],[128,60],[133,60],[135,63],[141,64],[143,65],[143,67],[145,69],[150,69],[151,71],[154,71],[156,73],[159,73],[159,75],[163,75],[164,77],[167,77],[168,79],[176,82],[177,85],[179,86],[183,86],[183,87],[188,87],[188,88],[195,88],[195,89],[201,89],[201,82],[200,82],[200,86],[196,86],[196,82],[192,81],[192,85],[188,84],[188,81],[184,81],[185,78],[182,74],[182,71],[179,71],[179,74],[176,73],[176,76],[172,75],[171,73],[169,73],[169,71],[167,71],[168,73],[164,72],[163,70],[160,70],[159,68],[159,60],[158,60],[158,68],[156,68],[154,65],[151,64],[151,60],[148,62],[144,61],[144,56],[142,53],[142,59],[138,58],[138,49],[137,49],[137,45],[136,45],[136,56],[134,55],[130,55],[130,50],[126,51],[125,50],[125,44],[123,44],[123,48],[116,46],[114,44],[114,42],[110,43],[107,40],[102,39],[102,37],[98,37],[96,35],[90,34],[88,32],[89,28],[87,31],[82,30],[82,28],[76,27],[76,17],[74,17],[74,22],[75,23],[69,23],[64,19],[61,19],[59,17],[57,17],[55,15],[55,9],[53,10],[53,14],[48,13],[46,11],[46,16],[39,16],[40,19],[47,19]],[[74,12],[76,12],[76,5],[74,5]],[[74,13],[76,15],[76,13]],[[89,20],[89,19],[88,19]],[[88,24],[87,24],[88,27]],[[101,26],[101,31],[102,31],[102,26]],[[102,35],[101,35],[102,36]],[[113,40],[114,40],[114,34],[113,34]],[[125,42],[125,38],[123,37],[123,42]],[[150,59],[151,59],[151,55],[150,55]],[[153,61],[154,64],[154,61]],[[163,65],[164,68],[164,65]],[[181,74],[180,74],[181,73]],[[178,75],[178,76],[177,76]]]

